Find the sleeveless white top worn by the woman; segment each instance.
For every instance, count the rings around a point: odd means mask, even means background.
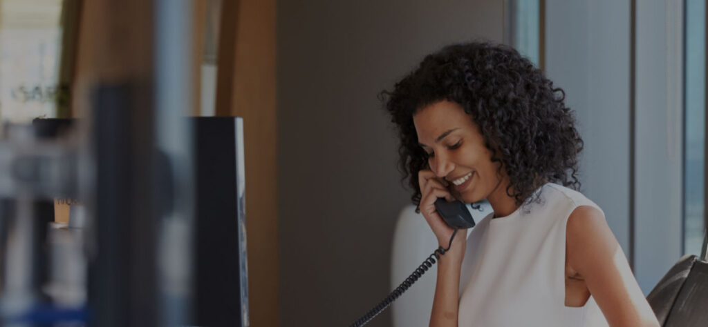
[[[488,215],[467,237],[458,326],[608,326],[592,296],[565,306],[566,222],[578,206],[600,207],[558,184],[536,192],[541,203]]]

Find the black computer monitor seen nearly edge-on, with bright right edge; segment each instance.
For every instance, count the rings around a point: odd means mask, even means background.
[[[192,118],[195,139],[196,326],[249,326],[244,128],[238,117]]]

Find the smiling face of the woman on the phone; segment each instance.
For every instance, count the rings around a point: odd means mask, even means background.
[[[418,110],[413,124],[430,170],[449,183],[452,196],[471,203],[500,191],[506,194],[506,172],[497,172],[501,163],[491,161],[479,126],[462,106],[435,102]]]

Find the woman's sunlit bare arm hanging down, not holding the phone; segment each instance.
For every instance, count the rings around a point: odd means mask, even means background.
[[[659,326],[600,210],[580,206],[566,226],[566,256],[610,326]]]

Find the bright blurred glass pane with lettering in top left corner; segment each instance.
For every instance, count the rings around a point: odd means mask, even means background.
[[[0,0],[0,121],[55,117],[62,0]]]

